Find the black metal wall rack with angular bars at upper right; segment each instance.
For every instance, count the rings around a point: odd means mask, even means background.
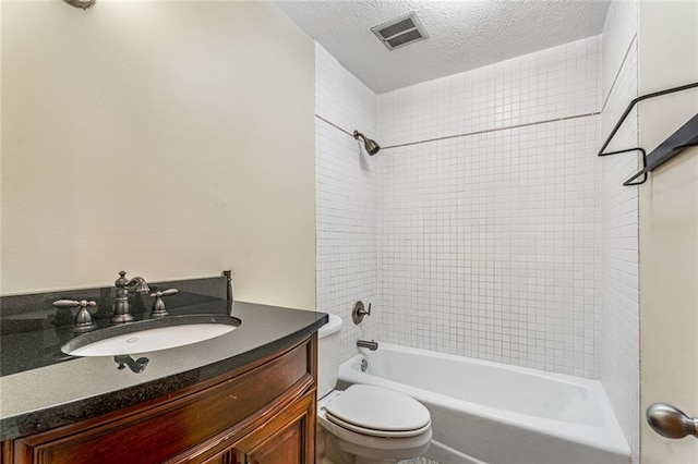
[[[657,148],[652,150],[649,155],[641,147],[636,148],[627,148],[624,150],[617,151],[609,151],[603,152],[603,150],[609,146],[615,134],[618,132],[618,129],[623,125],[626,118],[633,110],[633,108],[642,100],[647,100],[649,98],[661,97],[667,94],[674,94],[676,91],[688,90],[691,88],[698,87],[698,82],[693,84],[682,85],[679,87],[667,88],[665,90],[655,91],[652,94],[647,94],[641,97],[638,97],[630,101],[630,105],[625,109],[623,115],[618,120],[618,122],[611,131],[609,138],[603,143],[603,146],[599,150],[598,156],[610,156],[610,155],[618,155],[629,151],[639,151],[642,155],[642,170],[633,175],[630,179],[625,181],[623,185],[640,185],[643,184],[648,179],[648,173],[650,173],[655,168],[664,164],[666,161],[675,158],[677,155],[682,154],[686,148],[698,146],[698,113],[694,115],[688,122],[682,125],[676,132],[674,132],[669,138],[662,142]],[[637,181],[638,178],[642,178]]]

